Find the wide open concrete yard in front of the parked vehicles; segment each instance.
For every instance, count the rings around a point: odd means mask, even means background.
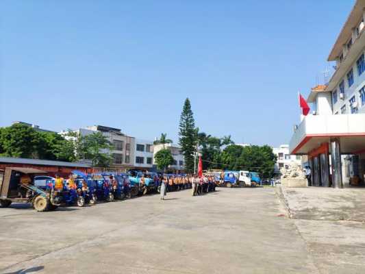
[[[201,197],[186,190],[168,193],[165,201],[158,198],[42,213],[24,206],[0,208],[0,273],[331,270],[327,261],[314,258],[318,249],[305,234],[318,233],[312,240],[325,249],[320,235],[327,227],[288,219],[273,188],[220,188]],[[364,273],[365,267],[358,270],[331,273]]]

